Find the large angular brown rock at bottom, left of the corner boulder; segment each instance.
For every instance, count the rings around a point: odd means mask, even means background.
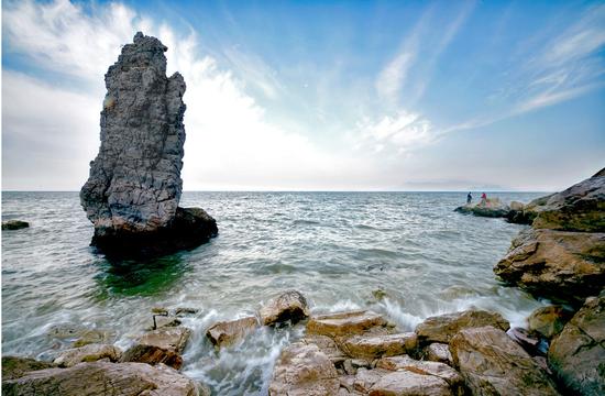
[[[473,395],[559,395],[538,363],[501,329],[461,330],[450,351]]]

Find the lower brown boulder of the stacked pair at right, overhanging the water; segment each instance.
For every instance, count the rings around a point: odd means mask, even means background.
[[[605,287],[605,233],[522,231],[494,273],[535,295],[581,302]]]

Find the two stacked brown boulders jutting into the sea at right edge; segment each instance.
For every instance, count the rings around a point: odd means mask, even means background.
[[[494,267],[503,280],[573,305],[605,287],[605,170],[524,208],[532,229]]]

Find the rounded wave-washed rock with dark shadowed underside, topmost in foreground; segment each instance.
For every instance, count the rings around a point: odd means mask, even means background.
[[[296,290],[289,290],[272,299],[258,311],[264,326],[274,326],[286,321],[297,323],[309,317],[307,299]]]

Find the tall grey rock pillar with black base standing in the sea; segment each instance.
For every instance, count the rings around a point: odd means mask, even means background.
[[[139,32],[106,76],[101,146],[80,201],[92,245],[120,255],[191,249],[217,234],[199,208],[179,208],[185,80],[166,77],[168,48]]]

